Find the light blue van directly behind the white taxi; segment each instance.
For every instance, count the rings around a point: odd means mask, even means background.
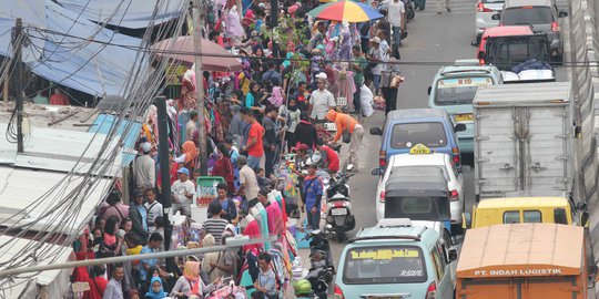
[[[380,168],[385,168],[392,155],[407,154],[416,144],[423,144],[432,152],[450,155],[461,171],[456,132],[465,130],[465,124],[455,124],[443,109],[405,109],[389,112],[383,130],[372,127],[370,135],[380,135]]]

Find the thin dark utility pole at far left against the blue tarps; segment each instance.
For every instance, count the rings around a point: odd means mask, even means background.
[[[16,92],[17,92],[17,103],[14,109],[17,110],[17,152],[23,152],[23,64],[21,62],[21,48],[23,44],[23,39],[21,37],[23,30],[23,23],[21,18],[17,18],[17,24],[14,25],[14,34],[12,37],[12,59],[14,60],[16,68]]]

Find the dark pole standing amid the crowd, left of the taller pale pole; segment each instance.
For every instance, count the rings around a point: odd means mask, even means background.
[[[173,234],[173,225],[171,217],[171,174],[169,165],[169,114],[166,113],[166,97],[159,96],[154,103],[158,110],[158,123],[159,123],[159,159],[160,159],[160,176],[162,178],[162,185],[160,194],[162,195],[162,208],[164,221],[164,250],[169,251],[171,248],[171,236]],[[175,262],[174,258],[166,258],[166,270],[174,271]]]

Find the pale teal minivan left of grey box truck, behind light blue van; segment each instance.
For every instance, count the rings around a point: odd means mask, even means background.
[[[501,84],[501,72],[493,65],[479,65],[478,60],[456,60],[454,65],[439,69],[428,87],[428,106],[444,109],[456,124],[466,130],[457,132],[461,153],[474,153],[473,100],[479,86]]]

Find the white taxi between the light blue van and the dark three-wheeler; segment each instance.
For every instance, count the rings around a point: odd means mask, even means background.
[[[422,148],[422,147],[420,147]],[[376,219],[386,218],[386,187],[387,183],[393,181],[394,176],[408,176],[405,179],[415,179],[426,182],[427,178],[438,175],[443,176],[449,192],[449,213],[453,233],[459,233],[461,229],[461,213],[465,210],[464,200],[464,177],[457,171],[451,157],[447,154],[430,153],[423,151],[418,154],[393,155],[387,168],[383,173],[380,168],[373,169],[373,175],[380,175],[376,188]],[[423,178],[422,177],[427,177]],[[400,209],[399,209],[400,210]],[[407,214],[403,216],[409,216]],[[413,219],[415,219],[413,217]]]

